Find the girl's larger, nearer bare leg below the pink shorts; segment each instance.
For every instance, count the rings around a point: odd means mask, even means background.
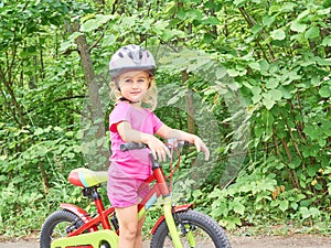
[[[117,248],[135,248],[138,233],[137,205],[129,207],[116,207],[115,211],[119,224]]]

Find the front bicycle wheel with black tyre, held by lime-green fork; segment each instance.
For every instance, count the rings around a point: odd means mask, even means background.
[[[183,247],[231,248],[229,240],[223,228],[210,216],[189,209],[177,214],[177,227],[181,234]],[[151,248],[174,247],[166,219],[152,236]]]

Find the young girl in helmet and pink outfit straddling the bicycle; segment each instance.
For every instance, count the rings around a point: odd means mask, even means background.
[[[164,161],[169,150],[161,138],[177,138],[194,143],[197,151],[210,152],[204,142],[194,134],[171,129],[148,108],[156,107],[154,58],[139,45],[128,45],[118,50],[109,63],[111,95],[116,106],[109,116],[111,140],[111,164],[108,170],[107,194],[116,209],[119,222],[118,248],[142,248],[141,228],[143,219],[138,220],[137,205],[149,188],[139,186],[151,174],[149,151]],[[121,152],[124,142],[146,143],[149,149]]]

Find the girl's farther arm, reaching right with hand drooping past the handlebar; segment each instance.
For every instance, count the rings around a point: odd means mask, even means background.
[[[164,138],[164,139],[169,139],[169,138],[177,138],[178,140],[185,140],[189,141],[190,143],[194,143],[196,147],[196,150],[203,151],[205,154],[205,160],[210,159],[210,150],[209,148],[205,145],[205,143],[201,140],[200,137],[182,131],[182,130],[178,130],[178,129],[172,129],[170,127],[168,127],[167,125],[162,125],[161,128],[159,128],[159,130],[157,131],[157,134]]]

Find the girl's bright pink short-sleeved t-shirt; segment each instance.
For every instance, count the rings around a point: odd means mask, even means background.
[[[111,140],[110,174],[146,180],[151,174],[149,149],[120,151],[125,141],[117,131],[117,123],[128,121],[132,129],[154,134],[162,126],[162,121],[149,109],[138,109],[126,101],[119,103],[109,116]]]

